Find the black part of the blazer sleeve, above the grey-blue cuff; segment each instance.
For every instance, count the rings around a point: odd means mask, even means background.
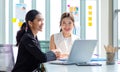
[[[40,63],[46,62],[47,57],[46,54],[44,54],[40,49],[39,46],[37,46],[35,39],[26,37],[23,40],[23,44],[26,48],[26,50],[32,54],[37,60],[40,61]]]

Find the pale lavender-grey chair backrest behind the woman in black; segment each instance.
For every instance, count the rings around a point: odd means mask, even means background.
[[[13,45],[0,44],[0,72],[11,72],[14,66]]]

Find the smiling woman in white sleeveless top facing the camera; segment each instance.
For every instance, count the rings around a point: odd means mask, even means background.
[[[68,57],[73,42],[79,39],[78,36],[72,33],[74,27],[73,14],[69,12],[63,13],[60,20],[60,32],[53,34],[50,40],[50,50],[58,51],[60,58]]]

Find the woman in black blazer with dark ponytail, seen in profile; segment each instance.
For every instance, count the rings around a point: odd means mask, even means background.
[[[41,63],[55,60],[58,57],[55,51],[45,54],[40,50],[37,33],[42,31],[43,20],[41,13],[37,10],[30,10],[26,14],[26,22],[23,23],[16,36],[18,56],[12,72],[32,72]]]

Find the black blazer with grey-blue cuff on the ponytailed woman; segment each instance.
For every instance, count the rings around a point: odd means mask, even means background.
[[[37,37],[34,38],[29,30],[21,38],[17,61],[12,72],[32,72],[41,63],[55,59],[56,56],[52,51],[46,54],[41,51]]]

